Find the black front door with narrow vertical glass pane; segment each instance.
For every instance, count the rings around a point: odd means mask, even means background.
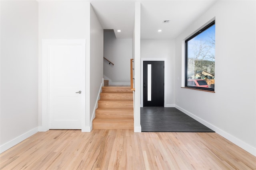
[[[164,106],[164,61],[143,62],[143,106]]]

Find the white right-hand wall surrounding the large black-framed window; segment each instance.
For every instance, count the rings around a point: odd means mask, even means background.
[[[256,155],[256,2],[218,1],[176,38],[176,107]],[[216,18],[215,93],[180,88],[182,40]],[[184,77],[184,76],[183,76]]]

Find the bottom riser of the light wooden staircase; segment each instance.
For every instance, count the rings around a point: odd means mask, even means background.
[[[92,129],[134,129],[133,123],[94,122]]]

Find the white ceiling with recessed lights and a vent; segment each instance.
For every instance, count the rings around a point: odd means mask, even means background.
[[[216,0],[140,0],[141,39],[176,38]],[[91,0],[103,29],[114,29],[116,38],[132,38],[135,0]],[[164,20],[170,20],[164,23]],[[117,32],[120,29],[121,32]],[[161,32],[158,30],[161,29]]]

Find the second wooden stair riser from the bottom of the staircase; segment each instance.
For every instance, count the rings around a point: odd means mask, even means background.
[[[130,112],[118,112],[118,111],[115,111],[115,112],[104,112],[104,111],[97,111],[95,112],[95,116],[98,117],[98,118],[116,118],[116,117],[119,117],[119,118],[133,118],[133,112],[130,111]]]

